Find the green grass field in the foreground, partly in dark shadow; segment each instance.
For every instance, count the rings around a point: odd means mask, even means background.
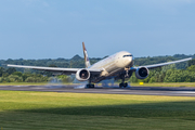
[[[194,130],[195,98],[0,91],[3,130]]]

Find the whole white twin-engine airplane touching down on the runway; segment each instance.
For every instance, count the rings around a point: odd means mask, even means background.
[[[87,88],[94,88],[94,83],[98,83],[105,79],[110,79],[110,78],[121,79],[121,83],[119,83],[119,88],[122,87],[126,88],[128,87],[128,82],[125,81],[126,79],[129,79],[132,76],[133,72],[135,73],[136,78],[145,79],[150,74],[148,69],[192,60],[192,57],[188,57],[188,58],[160,63],[160,64],[133,66],[134,64],[133,55],[127,51],[120,51],[91,65],[84,47],[84,42],[82,42],[82,48],[83,48],[86,68],[58,68],[58,67],[40,67],[40,66],[25,66],[25,65],[11,65],[11,64],[8,64],[6,66],[32,68],[37,70],[57,73],[60,75],[75,74],[77,80],[88,81],[88,84],[86,84]]]

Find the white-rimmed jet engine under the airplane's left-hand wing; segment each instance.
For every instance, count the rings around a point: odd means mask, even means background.
[[[90,72],[88,69],[79,69],[76,73],[76,78],[79,81],[87,81],[90,78]]]

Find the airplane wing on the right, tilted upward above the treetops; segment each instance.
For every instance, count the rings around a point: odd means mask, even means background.
[[[178,60],[178,61],[173,61],[173,62],[160,63],[160,64],[153,64],[153,65],[131,67],[131,70],[135,70],[135,69],[139,68],[139,67],[146,67],[146,68],[148,68],[148,69],[151,69],[151,68],[157,68],[157,67],[161,67],[161,66],[166,66],[166,65],[170,65],[170,64],[186,62],[186,61],[190,61],[190,60],[192,60],[192,57],[183,58],[183,60]]]

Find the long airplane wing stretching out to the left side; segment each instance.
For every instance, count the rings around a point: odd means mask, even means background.
[[[25,66],[25,65],[11,65],[8,64],[6,66],[9,67],[20,67],[20,68],[31,68],[31,69],[37,69],[37,70],[44,70],[44,72],[52,72],[52,73],[61,73],[64,75],[72,75],[76,74],[77,70],[82,69],[82,68],[58,68],[58,67],[40,67],[40,66]],[[100,74],[102,70],[101,69],[90,69],[90,68],[84,68],[88,69],[92,74]]]

